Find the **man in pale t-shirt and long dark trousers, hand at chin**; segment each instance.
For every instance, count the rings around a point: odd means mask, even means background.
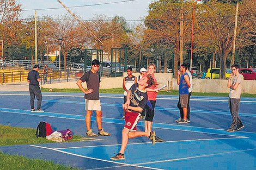
[[[238,110],[240,107],[240,96],[243,85],[243,75],[239,73],[239,65],[231,66],[232,73],[228,78],[229,98],[228,106],[232,116],[232,122],[230,124],[228,132],[240,130],[245,127],[239,118]]]

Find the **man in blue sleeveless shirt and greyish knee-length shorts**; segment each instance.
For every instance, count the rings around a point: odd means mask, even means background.
[[[179,85],[179,103],[183,111],[183,118],[176,121],[178,123],[187,123],[187,103],[188,103],[188,88],[190,88],[190,77],[188,76],[186,70],[188,65],[180,65],[180,70],[178,71],[177,84]],[[178,104],[179,105],[179,104]]]

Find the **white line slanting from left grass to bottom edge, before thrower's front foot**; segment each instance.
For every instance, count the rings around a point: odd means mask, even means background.
[[[128,163],[121,163],[121,162],[114,162],[114,161],[103,160],[103,159],[98,159],[98,158],[92,158],[92,157],[89,157],[89,156],[73,154],[73,153],[65,152],[63,150],[58,150],[58,149],[53,149],[53,148],[48,148],[48,147],[42,147],[42,146],[36,146],[36,145],[33,145],[33,144],[31,144],[30,146],[38,147],[38,148],[43,148],[43,149],[50,149],[50,150],[54,150],[56,152],[61,152],[61,153],[64,153],[64,154],[74,155],[74,156],[78,156],[78,157],[81,157],[81,158],[93,159],[93,160],[97,160],[97,161],[105,161],[105,162],[110,162],[110,163],[117,163],[117,164],[120,164],[120,165],[126,165],[126,166],[133,166],[133,167],[140,167],[140,168],[147,168],[147,169],[162,170],[162,169],[159,169],[159,168],[151,168],[151,167],[145,167],[145,166],[139,166],[139,165],[132,165],[132,164],[128,164]]]

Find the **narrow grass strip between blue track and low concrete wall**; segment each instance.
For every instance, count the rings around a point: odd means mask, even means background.
[[[49,89],[41,88],[41,91],[48,92]],[[81,93],[80,89],[52,89],[52,92],[77,92]],[[123,94],[123,88],[115,88],[115,89],[100,89],[100,93],[118,93]],[[160,91],[159,95],[179,95],[179,91],[172,90],[170,92]],[[202,92],[192,92],[192,96],[217,96],[217,97],[228,97],[229,93],[202,93]],[[247,94],[242,93],[241,97],[253,97],[256,98],[256,94]]]

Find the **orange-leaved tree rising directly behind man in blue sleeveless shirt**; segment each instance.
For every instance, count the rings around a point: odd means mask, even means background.
[[[178,72],[180,45],[180,18],[183,14],[183,42],[191,39],[191,2],[160,0],[149,5],[149,15],[145,18],[146,36],[149,43],[159,42],[174,48],[174,73]],[[176,77],[176,74],[174,74]]]

